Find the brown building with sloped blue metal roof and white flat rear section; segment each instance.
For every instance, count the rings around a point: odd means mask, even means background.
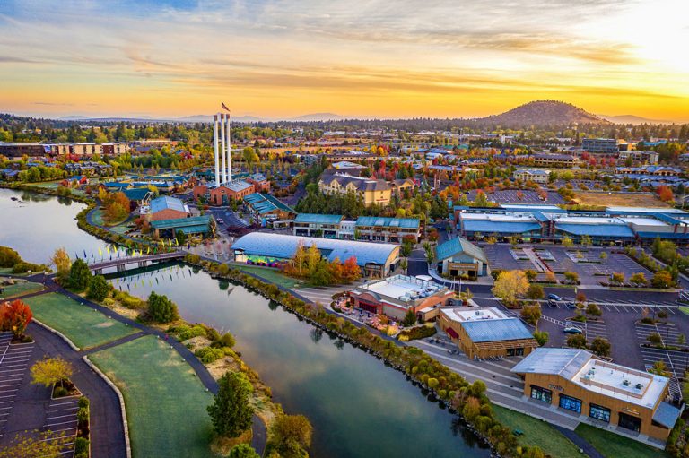
[[[528,355],[538,347],[519,318],[496,307],[442,308],[438,324],[469,359]]]

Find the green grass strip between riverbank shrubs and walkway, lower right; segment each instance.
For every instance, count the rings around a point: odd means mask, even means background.
[[[570,439],[560,434],[560,431],[545,421],[494,404],[493,412],[502,424],[511,429],[519,429],[524,433],[523,436],[519,436],[520,445],[537,445],[545,454],[558,458],[580,458],[582,456],[579,453],[579,448]],[[631,455],[626,458],[631,458]]]

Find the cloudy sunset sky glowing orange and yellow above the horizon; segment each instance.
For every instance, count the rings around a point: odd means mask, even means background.
[[[0,0],[0,112],[689,121],[685,0]]]

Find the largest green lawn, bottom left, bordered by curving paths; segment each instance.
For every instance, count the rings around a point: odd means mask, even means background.
[[[212,427],[205,407],[213,396],[177,351],[149,335],[89,359],[125,397],[135,457],[212,455]]]

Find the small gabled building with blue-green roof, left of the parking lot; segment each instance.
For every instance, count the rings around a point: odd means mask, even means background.
[[[491,273],[484,250],[456,237],[435,247],[438,273],[449,277],[484,277]]]

